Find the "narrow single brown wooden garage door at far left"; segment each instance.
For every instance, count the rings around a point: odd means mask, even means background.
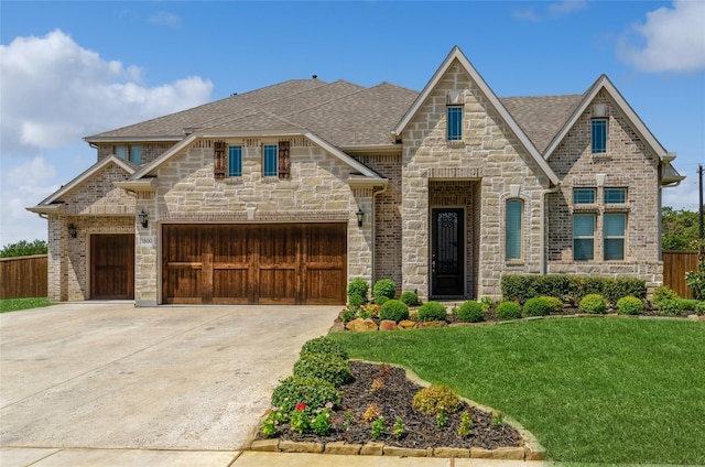
[[[134,298],[134,235],[90,236],[90,297]]]

